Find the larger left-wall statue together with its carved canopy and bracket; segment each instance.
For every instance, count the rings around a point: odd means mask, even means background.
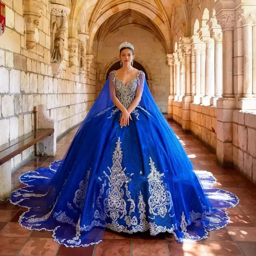
[[[70,9],[62,4],[50,4],[51,10],[51,66],[52,76],[56,77],[62,73],[65,63],[64,41],[66,31],[66,21]]]

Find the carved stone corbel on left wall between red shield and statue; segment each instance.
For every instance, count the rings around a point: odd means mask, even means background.
[[[26,46],[33,49],[36,45],[36,27],[42,15],[41,0],[23,0],[23,13],[26,27]]]

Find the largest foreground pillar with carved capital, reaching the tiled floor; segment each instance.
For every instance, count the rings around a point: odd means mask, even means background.
[[[235,3],[233,3],[235,4]],[[216,18],[223,35],[223,98],[217,100],[216,153],[222,165],[232,165],[232,121],[236,101],[233,95],[233,29],[235,27],[235,11],[219,10],[218,2]]]

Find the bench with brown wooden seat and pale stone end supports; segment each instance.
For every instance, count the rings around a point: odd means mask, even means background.
[[[25,149],[36,145],[39,156],[56,155],[56,121],[46,114],[45,105],[34,111],[35,130],[0,146],[0,203],[11,196],[11,159]]]

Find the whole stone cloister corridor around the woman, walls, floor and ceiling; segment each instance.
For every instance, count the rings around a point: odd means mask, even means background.
[[[0,256],[255,255],[255,0],[0,3]],[[65,155],[125,41],[195,170],[240,203],[227,227],[195,244],[109,231],[98,245],[65,248],[21,228],[25,208],[6,201],[20,174]]]

